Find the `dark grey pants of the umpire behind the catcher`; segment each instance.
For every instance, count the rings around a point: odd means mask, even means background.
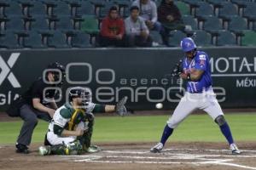
[[[20,117],[24,123],[20,129],[20,135],[17,139],[17,143],[25,145],[29,145],[31,143],[32,133],[38,124],[38,118],[43,119],[46,122],[50,122],[51,120],[48,113],[35,110],[30,105],[22,105],[20,107]]]

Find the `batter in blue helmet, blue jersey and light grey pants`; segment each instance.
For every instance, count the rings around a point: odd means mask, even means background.
[[[177,105],[173,115],[167,121],[160,143],[151,148],[151,152],[160,152],[166,144],[166,140],[172,135],[174,128],[180,122],[197,109],[206,111],[218,124],[224,137],[230,144],[232,154],[240,154],[234,143],[228,122],[224,119],[216,95],[212,90],[212,77],[209,57],[203,51],[197,51],[195,42],[192,38],[186,37],[181,42],[181,48],[185,53],[182,63],[182,73],[179,77],[187,80],[187,90],[183,98]]]

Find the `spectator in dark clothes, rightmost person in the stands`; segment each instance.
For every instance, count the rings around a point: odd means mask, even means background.
[[[170,31],[184,30],[185,26],[183,25],[183,21],[181,19],[182,16],[173,0],[162,0],[157,11],[158,20],[160,21],[161,26],[163,26],[163,41],[167,43]]]

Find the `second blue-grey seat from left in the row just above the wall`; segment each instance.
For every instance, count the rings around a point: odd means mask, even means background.
[[[41,35],[37,31],[29,31],[27,37],[24,37],[25,48],[47,48],[43,44]]]

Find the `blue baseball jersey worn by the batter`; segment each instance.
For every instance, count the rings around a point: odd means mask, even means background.
[[[208,55],[203,51],[197,51],[195,57],[189,60],[183,59],[183,72],[190,73],[192,69],[204,71],[198,81],[188,81],[187,92],[201,93],[212,86],[211,67]]]

